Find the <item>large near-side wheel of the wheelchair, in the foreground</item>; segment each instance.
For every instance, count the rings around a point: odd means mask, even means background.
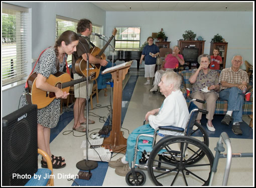
[[[172,150],[177,143],[181,149]],[[165,149],[166,152],[159,154],[161,149]],[[191,162],[192,158],[201,152],[201,160],[197,160],[197,164]],[[168,155],[170,160],[162,160],[162,155]],[[156,185],[208,185],[213,160],[210,149],[198,139],[189,136],[169,136],[160,140],[153,148],[148,161],[148,173]]]

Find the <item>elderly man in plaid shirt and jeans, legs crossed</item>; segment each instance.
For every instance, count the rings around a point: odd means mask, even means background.
[[[224,68],[219,77],[221,83],[219,97],[228,101],[227,113],[221,123],[229,125],[230,121],[233,120],[232,131],[234,134],[241,135],[242,105],[249,78],[246,71],[240,69],[243,63],[242,56],[235,55],[231,62],[232,66]]]

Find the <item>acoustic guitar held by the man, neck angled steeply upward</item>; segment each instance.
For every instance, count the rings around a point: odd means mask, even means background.
[[[106,59],[106,55],[103,52],[105,51],[106,47],[108,46],[108,44],[111,42],[111,40],[115,36],[116,32],[117,32],[117,30],[116,30],[116,28],[114,28],[113,32],[112,32],[112,36],[109,38],[107,43],[102,47],[102,49],[100,49],[96,46],[90,48],[90,55],[93,55],[96,58]],[[89,70],[88,70],[89,73],[88,74],[90,75],[91,73],[94,73],[94,72],[96,73],[95,78],[93,78],[92,80],[97,79],[97,77],[99,76],[100,67],[101,67],[101,65],[99,63],[97,63],[97,64],[89,63]],[[83,57],[80,57],[76,60],[75,70],[77,73],[86,76],[87,64],[86,64],[86,61],[83,59]]]

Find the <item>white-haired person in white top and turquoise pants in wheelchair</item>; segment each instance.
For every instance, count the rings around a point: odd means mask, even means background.
[[[173,125],[185,128],[189,118],[189,111],[186,100],[180,91],[181,77],[173,71],[167,71],[163,74],[159,83],[160,91],[165,95],[165,100],[160,108],[153,109],[146,114],[146,120],[149,124],[142,125],[136,128],[127,138],[126,154],[115,161],[110,161],[108,165],[116,168],[115,173],[121,176],[125,176],[130,171],[131,163],[134,159],[134,146],[139,134],[154,134],[155,129],[158,126]],[[160,132],[160,131],[159,131]],[[160,133],[181,135],[180,132],[175,131],[162,131]],[[147,143],[143,143],[143,140],[148,140]],[[146,150],[147,152],[152,150],[152,137],[141,136],[138,148]],[[142,152],[137,152],[137,161],[142,157]]]

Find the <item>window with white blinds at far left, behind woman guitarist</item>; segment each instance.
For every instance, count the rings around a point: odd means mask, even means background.
[[[2,84],[27,76],[28,8],[3,3],[2,6]]]

